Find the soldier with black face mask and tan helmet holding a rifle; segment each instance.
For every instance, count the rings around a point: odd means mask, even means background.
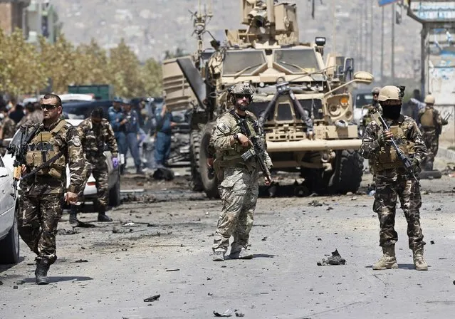
[[[424,235],[420,227],[420,187],[407,174],[397,152],[390,144],[390,139],[393,137],[399,148],[412,160],[412,170],[417,177],[420,163],[427,155],[427,147],[417,123],[411,117],[400,114],[402,98],[399,91],[399,88],[392,85],[380,90],[379,101],[390,130],[382,130],[382,125],[376,121],[370,122],[360,147],[361,155],[372,158],[375,164],[376,194],[373,211],[380,220],[380,246],[384,254],[380,261],[373,265],[373,269],[398,268],[395,257],[398,234],[394,230],[394,224],[395,206],[399,197],[407,220],[409,249],[413,252],[414,266],[417,270],[427,270],[428,266],[424,261]]]

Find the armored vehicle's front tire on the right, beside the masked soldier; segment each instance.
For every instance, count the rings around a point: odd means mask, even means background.
[[[331,192],[340,194],[357,192],[362,182],[363,157],[357,150],[337,151],[337,157]]]

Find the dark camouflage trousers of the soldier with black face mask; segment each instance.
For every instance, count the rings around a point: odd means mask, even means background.
[[[394,229],[398,197],[407,221],[409,249],[422,247],[425,243],[420,227],[419,209],[422,206],[422,197],[419,185],[403,175],[399,175],[394,181],[376,178],[375,182],[373,211],[380,220],[380,246],[389,246],[398,241],[398,234]]]

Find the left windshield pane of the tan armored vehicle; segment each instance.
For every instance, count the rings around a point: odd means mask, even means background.
[[[226,51],[224,53],[223,75],[252,75],[259,67],[266,63],[263,51]]]

